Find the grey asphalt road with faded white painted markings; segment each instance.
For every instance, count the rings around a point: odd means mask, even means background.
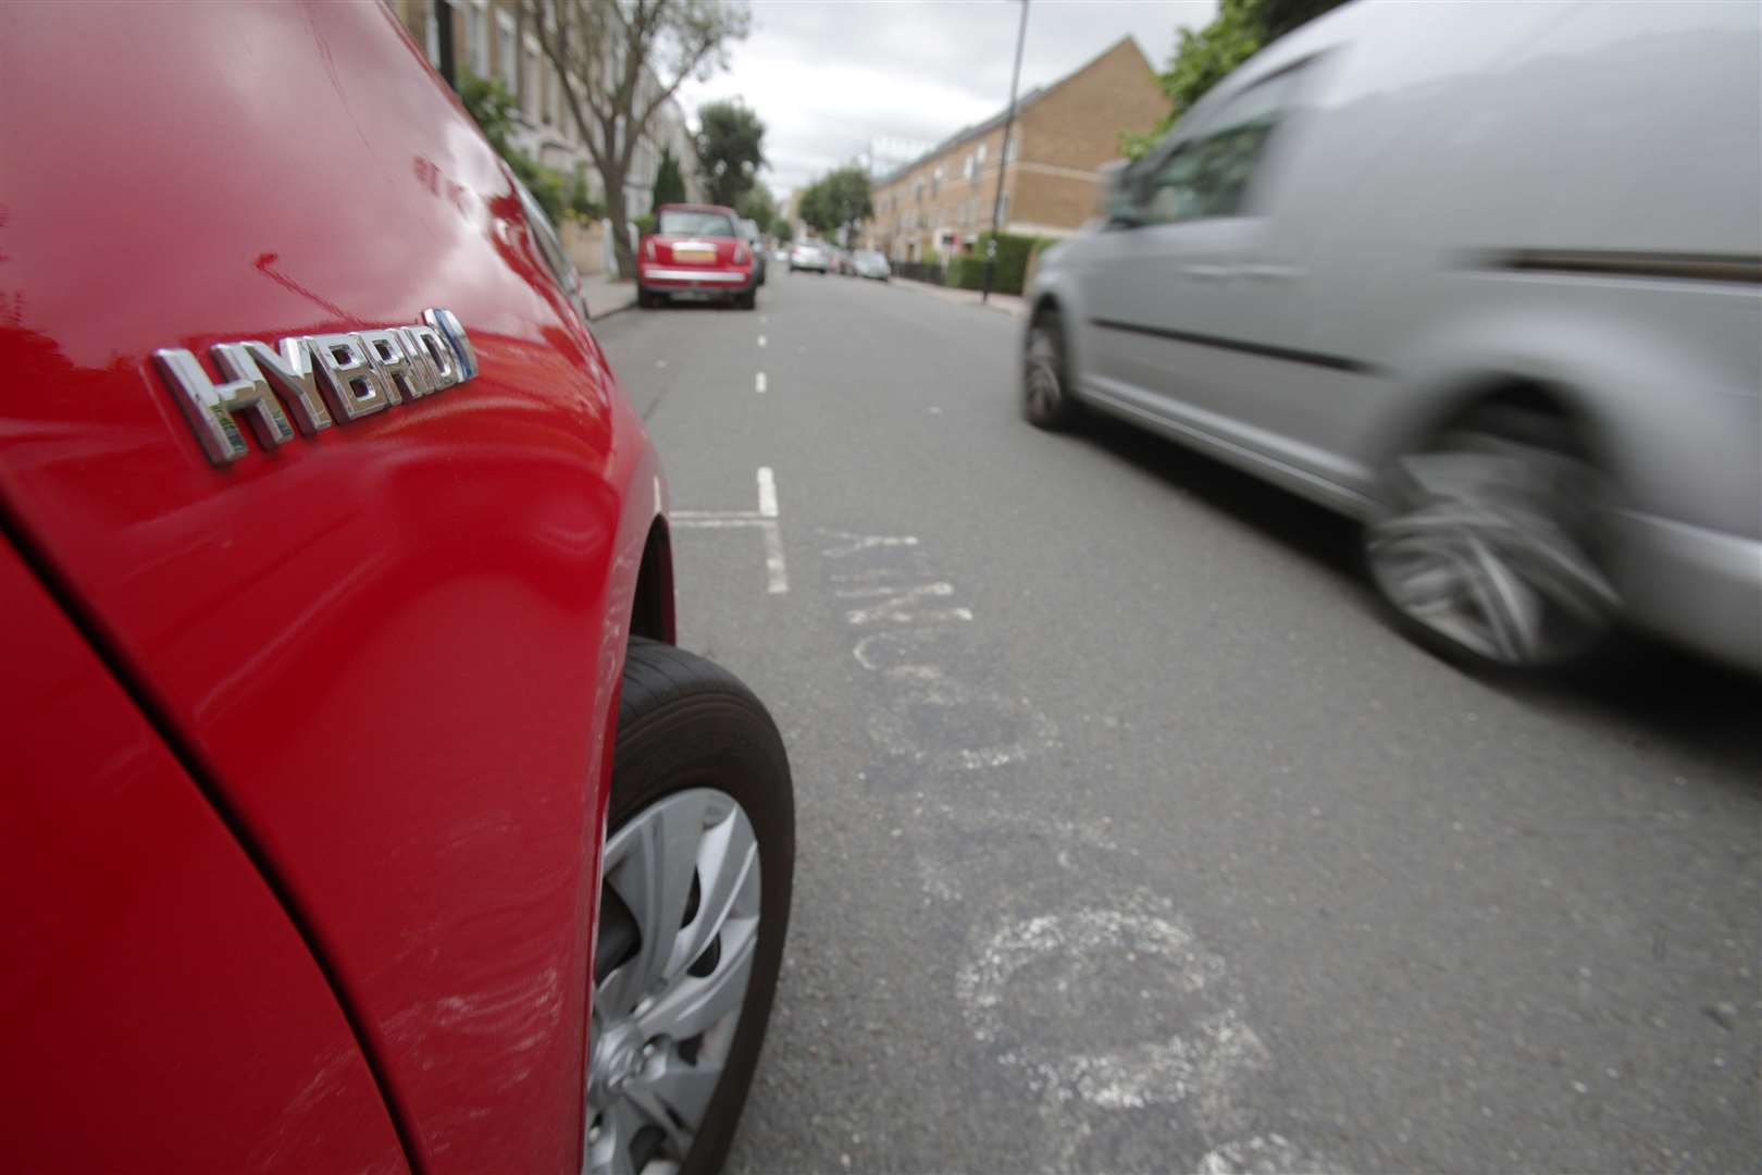
[[[1757,1170],[1762,692],[1464,676],[1329,514],[1022,423],[1017,331],[782,271],[596,324],[795,766],[731,1170]]]

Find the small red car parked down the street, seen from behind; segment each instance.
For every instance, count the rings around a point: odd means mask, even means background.
[[[636,243],[636,305],[671,298],[758,305],[759,271],[740,213],[721,204],[661,204],[655,231]]]

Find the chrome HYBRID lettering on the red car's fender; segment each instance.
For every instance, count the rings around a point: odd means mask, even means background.
[[[247,421],[257,444],[273,449],[335,421],[432,396],[478,375],[478,351],[451,310],[425,310],[414,326],[386,326],[337,335],[298,335],[277,347],[255,340],[215,344],[222,382],[181,347],[153,352],[153,361],[215,465],[248,453]]]

